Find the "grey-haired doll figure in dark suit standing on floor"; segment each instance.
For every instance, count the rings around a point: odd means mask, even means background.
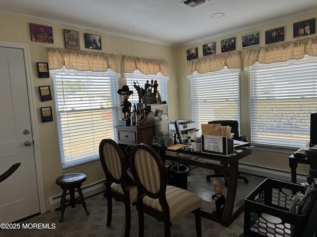
[[[226,202],[226,198],[223,196],[224,189],[225,189],[224,179],[215,178],[213,180],[214,195],[212,195],[211,198],[215,200],[216,209],[212,213],[218,216],[222,215],[223,207]]]

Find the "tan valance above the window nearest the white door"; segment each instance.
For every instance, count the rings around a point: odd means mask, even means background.
[[[49,48],[48,56],[50,70],[64,67],[77,71],[106,72],[111,69],[120,73],[120,58],[116,54]]]

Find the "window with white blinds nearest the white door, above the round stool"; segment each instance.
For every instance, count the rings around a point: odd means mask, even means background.
[[[100,141],[115,139],[114,121],[120,118],[117,79],[53,75],[62,168],[99,159]]]

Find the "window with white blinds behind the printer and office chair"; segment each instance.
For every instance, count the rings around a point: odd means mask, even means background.
[[[188,76],[191,83],[192,119],[199,124],[212,120],[237,120],[240,123],[239,71],[221,71]]]

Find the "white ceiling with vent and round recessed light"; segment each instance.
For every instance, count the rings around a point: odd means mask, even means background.
[[[206,0],[195,7],[180,1],[0,0],[0,12],[181,46],[317,11],[317,0]],[[220,12],[225,15],[211,17]]]

